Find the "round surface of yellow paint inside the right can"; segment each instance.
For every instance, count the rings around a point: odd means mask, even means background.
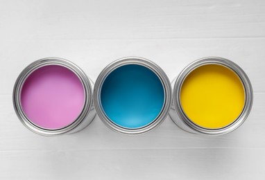
[[[230,125],[241,114],[245,89],[231,69],[207,64],[187,75],[180,90],[180,101],[193,123],[218,129]]]

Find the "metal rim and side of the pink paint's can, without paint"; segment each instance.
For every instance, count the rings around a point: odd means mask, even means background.
[[[36,70],[49,66],[58,66],[67,69],[67,71],[69,72],[71,71],[71,73],[76,76],[78,80],[80,80],[80,84],[82,84],[83,86],[84,99],[83,107],[82,109],[80,109],[80,114],[77,118],[74,118],[72,120],[72,123],[66,125],[65,127],[47,128],[37,125],[36,123],[33,123],[31,118],[28,118],[24,109],[22,108],[22,89],[24,87],[24,83],[26,82],[28,77],[30,77],[30,75],[36,72]],[[29,64],[22,71],[22,73],[20,73],[13,89],[13,105],[19,120],[32,132],[43,136],[58,136],[62,134],[71,134],[87,127],[87,125],[89,125],[89,123],[91,123],[94,117],[96,116],[96,111],[94,110],[92,100],[92,85],[93,82],[89,80],[89,78],[87,78],[85,73],[78,66],[76,66],[76,64],[58,57],[44,58]]]

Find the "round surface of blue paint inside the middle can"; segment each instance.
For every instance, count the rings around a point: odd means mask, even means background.
[[[160,78],[145,66],[120,66],[103,82],[101,105],[113,123],[130,129],[144,127],[162,111],[164,87]]]

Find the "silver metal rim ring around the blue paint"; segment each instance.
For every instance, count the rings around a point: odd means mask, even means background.
[[[164,87],[164,94],[165,94],[164,106],[160,112],[160,115],[157,116],[157,118],[155,118],[155,120],[153,120],[152,123],[150,123],[144,127],[137,128],[137,129],[129,129],[126,127],[121,127],[119,125],[116,125],[115,123],[112,122],[112,120],[110,120],[105,115],[103,108],[101,106],[100,94],[101,94],[101,87],[102,87],[102,84],[103,84],[105,78],[112,71],[114,71],[114,69],[117,69],[118,67],[124,66],[127,64],[138,64],[138,65],[146,66],[148,69],[151,69],[160,78],[160,80],[163,84],[163,87]],[[101,71],[101,73],[99,74],[99,77],[96,79],[96,82],[94,84],[93,96],[94,96],[94,98],[93,98],[94,99],[94,107],[96,109],[96,112],[97,112],[99,118],[101,118],[103,123],[107,127],[109,127],[110,129],[114,130],[115,132],[119,132],[121,134],[129,134],[129,135],[144,134],[146,132],[150,132],[152,129],[159,126],[164,121],[166,116],[168,116],[169,109],[170,109],[171,103],[172,103],[172,101],[171,101],[171,97],[172,97],[171,83],[169,81],[169,78],[167,78],[166,73],[164,73],[164,71],[160,68],[160,66],[158,66],[154,62],[151,62],[150,60],[146,60],[145,58],[142,58],[142,57],[123,57],[119,60],[116,60],[116,61],[110,63],[108,66],[106,66],[105,69],[103,69],[103,71]]]

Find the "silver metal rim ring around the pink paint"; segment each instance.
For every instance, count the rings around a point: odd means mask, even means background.
[[[78,116],[78,118],[76,118],[76,120],[74,120],[73,123],[71,123],[67,127],[62,127],[60,129],[45,129],[45,128],[39,127],[35,125],[34,123],[32,123],[31,120],[29,120],[24,114],[24,111],[22,109],[22,105],[20,102],[22,87],[23,87],[25,80],[28,78],[28,75],[33,73],[33,71],[35,71],[36,69],[39,69],[42,66],[47,66],[47,65],[64,66],[67,69],[73,71],[78,76],[80,81],[82,82],[83,88],[85,91],[85,102],[84,102],[83,110],[81,111],[80,115]],[[25,127],[30,129],[32,132],[35,132],[36,134],[40,134],[42,136],[59,136],[59,135],[67,134],[71,132],[73,129],[78,127],[78,125],[80,125],[80,123],[82,123],[83,120],[85,120],[85,118],[87,117],[87,114],[92,108],[92,102],[93,102],[92,98],[93,98],[92,97],[92,86],[89,82],[89,79],[87,78],[87,75],[85,75],[82,69],[80,69],[76,64],[74,64],[73,62],[70,62],[69,60],[65,60],[59,57],[46,57],[40,60],[36,60],[35,62],[32,62],[31,64],[26,66],[26,68],[19,74],[15,82],[15,85],[14,85],[12,100],[13,100],[15,112],[19,120],[22,122],[22,124]]]

